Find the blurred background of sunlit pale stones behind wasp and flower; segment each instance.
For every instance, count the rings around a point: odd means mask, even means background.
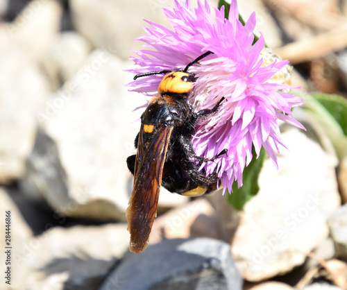
[[[143,19],[170,27],[169,5],[0,0],[2,275],[6,211],[12,246],[0,289],[347,289],[345,99],[334,107],[342,131],[317,121],[323,113],[294,110],[307,132],[283,126],[289,150],[278,171],[264,162],[241,212],[221,192],[189,199],[162,189],[149,248],[128,253],[126,157],[146,97],[124,87],[126,70]],[[257,13],[256,31],[290,60],[293,87],[346,97],[347,1],[238,6],[245,19]]]

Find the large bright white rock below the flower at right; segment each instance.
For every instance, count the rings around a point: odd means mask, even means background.
[[[282,134],[288,151],[277,171],[265,160],[260,191],[244,207],[232,242],[242,276],[260,281],[303,264],[328,236],[327,217],[340,204],[337,160],[297,129]]]

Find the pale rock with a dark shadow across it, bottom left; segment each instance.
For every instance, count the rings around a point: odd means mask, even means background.
[[[15,252],[18,289],[98,289],[128,250],[126,224],[51,228]]]

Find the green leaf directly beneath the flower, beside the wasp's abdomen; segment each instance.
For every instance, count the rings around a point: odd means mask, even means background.
[[[255,156],[254,148],[252,148],[252,154]],[[228,194],[228,201],[236,210],[243,210],[246,202],[257,195],[259,191],[258,178],[265,157],[266,152],[262,148],[259,157],[257,159],[253,158],[248,167],[244,169],[244,185],[240,188],[237,188],[237,182],[232,185],[232,193]]]

